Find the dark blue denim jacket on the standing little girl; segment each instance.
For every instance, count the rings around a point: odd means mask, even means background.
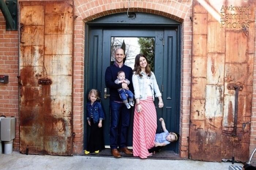
[[[98,123],[99,119],[104,120],[105,119],[105,114],[103,112],[103,109],[101,107],[101,103],[98,101],[95,101],[93,105],[91,105],[91,102],[88,102],[86,104],[87,108],[87,120],[90,120],[91,114],[93,114],[93,123]]]

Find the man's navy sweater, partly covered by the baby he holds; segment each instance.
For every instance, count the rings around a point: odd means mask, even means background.
[[[113,64],[106,69],[105,73],[105,84],[107,88],[110,89],[110,101],[122,101],[117,91],[118,89],[122,88],[122,84],[115,84],[114,82],[117,79],[117,72],[119,71],[123,71],[125,73],[125,78],[130,81],[130,84],[128,85],[129,90],[131,90],[132,93],[134,92],[132,86],[132,68],[126,65],[119,68]]]

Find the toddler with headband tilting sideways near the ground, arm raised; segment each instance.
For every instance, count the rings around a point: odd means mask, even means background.
[[[155,151],[159,151],[163,146],[170,144],[171,142],[176,142],[179,138],[179,134],[174,132],[168,132],[165,127],[165,121],[161,117],[159,119],[161,121],[161,125],[163,128],[163,132],[160,134],[155,134],[155,147],[148,150],[150,153],[154,153]]]

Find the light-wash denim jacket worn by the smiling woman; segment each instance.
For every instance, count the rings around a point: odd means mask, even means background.
[[[151,80],[150,86],[151,86],[151,92],[153,101],[155,100],[155,97],[162,96],[159,87],[157,85],[157,80],[155,79],[155,74],[151,72],[151,76],[148,77],[144,72],[140,72],[142,74],[142,77],[140,77],[138,74],[135,75],[135,73],[132,74],[132,84],[134,88],[134,97],[140,98],[140,100],[146,100],[148,94],[146,94],[146,78],[149,78]],[[154,96],[155,92],[155,96]]]

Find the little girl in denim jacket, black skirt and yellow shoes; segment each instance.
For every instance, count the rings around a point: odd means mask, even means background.
[[[89,154],[90,152],[95,152],[105,149],[103,141],[103,130],[102,130],[102,120],[105,119],[105,114],[102,110],[101,103],[99,100],[98,90],[91,89],[88,94],[89,102],[86,104],[87,108],[87,121],[91,126],[90,138],[87,144],[87,150],[84,154]]]

